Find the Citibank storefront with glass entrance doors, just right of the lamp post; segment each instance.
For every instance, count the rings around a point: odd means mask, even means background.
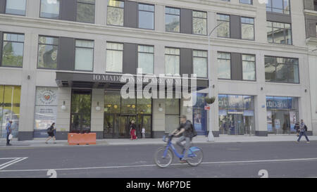
[[[254,96],[218,95],[219,133],[255,134]]]

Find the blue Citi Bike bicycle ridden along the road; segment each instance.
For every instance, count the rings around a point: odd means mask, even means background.
[[[182,154],[179,154],[176,151],[172,143],[173,137],[174,135],[168,136],[168,141],[166,141],[166,136],[163,136],[163,141],[167,142],[167,145],[165,147],[159,148],[154,155],[154,161],[156,165],[161,168],[168,167],[168,165],[173,162],[173,154],[175,154],[180,159],[185,155],[185,150]],[[186,161],[191,166],[198,166],[202,162],[203,158],[204,153],[201,148],[192,146],[189,148]]]

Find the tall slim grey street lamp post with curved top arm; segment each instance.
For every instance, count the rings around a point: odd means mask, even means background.
[[[214,30],[216,30],[217,27],[219,27],[219,25],[221,25],[223,23],[219,23],[218,25],[216,25],[216,27],[213,27],[213,30],[211,30],[211,32],[208,34],[208,77],[209,77],[209,98],[211,98],[211,51],[210,51],[210,37],[211,34],[213,33]],[[214,137],[213,137],[213,132],[212,132],[212,123],[211,123],[211,110],[209,110],[209,134],[208,134],[208,140],[207,141],[215,141]]]

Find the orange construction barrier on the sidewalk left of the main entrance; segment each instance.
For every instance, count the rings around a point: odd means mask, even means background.
[[[75,145],[96,145],[96,133],[89,134],[68,134],[68,144]]]

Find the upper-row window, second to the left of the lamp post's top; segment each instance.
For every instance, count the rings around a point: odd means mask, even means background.
[[[180,32],[180,9],[165,9],[165,30],[167,32]]]

